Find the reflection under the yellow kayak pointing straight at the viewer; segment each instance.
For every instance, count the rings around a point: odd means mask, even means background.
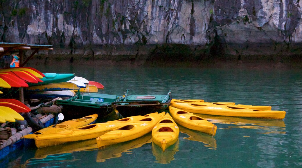
[[[174,160],[174,155],[178,151],[179,148],[179,140],[175,142],[175,144],[171,145],[169,148],[167,148],[164,152],[162,151],[162,148],[160,148],[158,145],[156,145],[154,142],[152,142],[152,152],[155,156],[155,163],[162,163],[162,164],[168,164],[172,160]]]

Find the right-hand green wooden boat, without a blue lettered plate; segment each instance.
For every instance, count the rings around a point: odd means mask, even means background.
[[[128,91],[124,97],[112,102],[112,106],[123,117],[169,111],[168,107],[172,100],[171,90],[166,95],[128,95]]]

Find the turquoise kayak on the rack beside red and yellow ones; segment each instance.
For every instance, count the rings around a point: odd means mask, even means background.
[[[43,73],[45,77],[39,83],[28,83],[28,86],[45,85],[49,83],[67,82],[75,77],[74,73]]]

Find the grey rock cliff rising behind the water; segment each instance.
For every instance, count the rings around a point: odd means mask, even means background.
[[[301,53],[300,0],[1,0],[3,42],[166,58]],[[150,58],[150,57],[149,57]],[[151,58],[152,59],[152,58]],[[180,60],[181,61],[181,60]]]

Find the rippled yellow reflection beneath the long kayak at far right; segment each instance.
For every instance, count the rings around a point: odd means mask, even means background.
[[[227,126],[226,128],[223,127],[218,129],[232,129],[232,128],[259,129],[262,130],[261,132],[257,132],[260,134],[285,134],[286,133],[285,123],[283,120],[211,116],[205,114],[195,114],[195,115],[203,117],[204,119],[207,119],[211,123],[230,125]]]

